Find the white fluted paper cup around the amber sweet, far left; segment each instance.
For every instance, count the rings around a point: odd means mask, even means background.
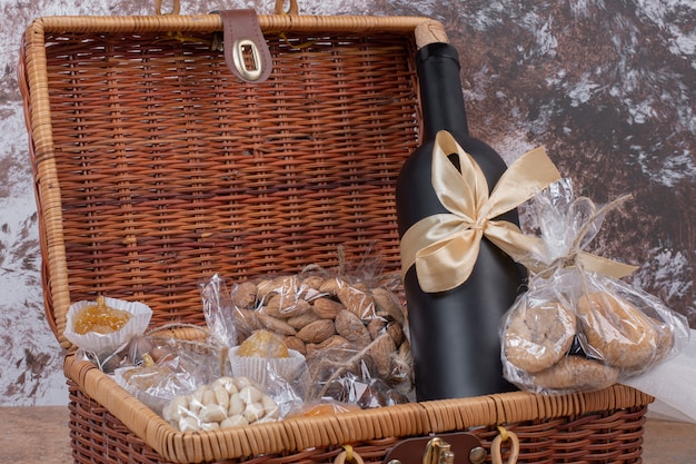
[[[99,334],[89,332],[78,334],[74,332],[74,318],[78,312],[87,306],[96,305],[97,302],[77,302],[68,308],[68,320],[63,335],[78,348],[95,353],[113,353],[125,346],[132,337],[142,335],[150,324],[152,309],[140,302],[126,302],[123,299],[105,298],[108,307],[125,310],[131,314],[128,323],[117,332],[110,334]]]

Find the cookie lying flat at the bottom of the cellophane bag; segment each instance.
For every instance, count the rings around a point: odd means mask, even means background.
[[[531,376],[534,385],[548,389],[588,392],[609,387],[619,369],[581,356],[565,356],[546,371]]]

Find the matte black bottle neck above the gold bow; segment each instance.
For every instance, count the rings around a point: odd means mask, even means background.
[[[424,140],[440,130],[457,137],[468,136],[459,57],[449,43],[429,43],[416,55],[422,109]]]

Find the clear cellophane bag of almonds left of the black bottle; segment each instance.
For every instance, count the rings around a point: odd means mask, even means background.
[[[264,362],[279,374],[298,357],[304,368],[290,382],[305,404],[324,399],[376,407],[409,401],[412,363],[406,314],[394,290],[395,282],[371,261],[351,272],[342,266],[338,270],[310,266],[298,274],[230,284],[237,337],[230,349],[232,374],[239,372],[264,383],[262,366],[255,376],[253,365]],[[261,361],[242,355],[253,340],[270,340],[269,334],[288,349],[282,365],[277,361],[269,364],[274,356],[264,353]],[[358,385],[365,395],[339,393],[339,386],[348,383]]]

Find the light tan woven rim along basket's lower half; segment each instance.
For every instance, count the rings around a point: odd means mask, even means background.
[[[640,391],[626,385],[614,385],[599,392],[575,393],[569,395],[536,395],[529,392],[509,392],[491,394],[486,396],[437,399],[420,403],[408,403],[389,407],[346,413],[338,416],[322,417],[299,417],[286,418],[284,421],[256,424],[252,432],[249,427],[227,428],[215,432],[178,432],[171,427],[162,417],[157,415],[146,405],[140,403],[127,391],[118,386],[107,374],[99,371],[97,366],[87,362],[78,361],[74,355],[68,355],[64,361],[64,374],[72,379],[89,397],[103,405],[115,417],[121,421],[131,432],[139,436],[148,446],[160,453],[165,458],[172,462],[197,462],[200,460],[220,461],[229,458],[248,457],[247,454],[255,453],[258,444],[255,444],[253,436],[274,435],[276,448],[264,448],[262,453],[274,454],[281,452],[301,452],[314,446],[340,446],[342,440],[361,442],[369,440],[387,438],[388,436],[378,434],[372,427],[361,427],[361,424],[389,424],[398,422],[399,416],[416,416],[418,421],[414,430],[405,431],[404,436],[415,436],[424,434],[438,434],[466,430],[473,426],[508,425],[523,421],[553,419],[566,416],[579,416],[584,414],[606,412],[612,409],[624,409],[647,405],[654,398]],[[478,411],[484,412],[487,421],[480,417],[471,418],[476,423],[456,424],[444,418],[453,411]],[[478,421],[477,421],[478,419]],[[481,423],[487,422],[487,423]],[[354,436],[339,436],[341,443],[304,443],[298,437],[298,430],[330,428],[346,431],[342,435],[352,433]],[[350,431],[350,432],[348,432]],[[322,434],[318,441],[330,440],[331,434]],[[389,436],[391,437],[391,436]],[[284,440],[285,438],[285,440]],[[219,446],[201,446],[202,444],[226,442],[231,455],[222,455]],[[240,448],[233,450],[233,444],[240,443]],[[201,450],[211,455],[201,455]],[[259,451],[259,454],[261,451]]]

